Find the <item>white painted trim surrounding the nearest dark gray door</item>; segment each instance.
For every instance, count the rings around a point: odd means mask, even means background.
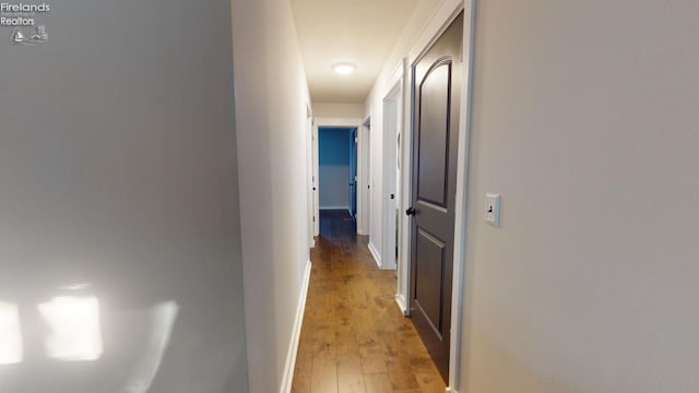
[[[430,46],[441,36],[455,16],[464,11],[464,32],[463,32],[463,83],[462,99],[459,124],[459,147],[458,147],[458,165],[457,165],[457,195],[454,212],[454,255],[453,255],[453,281],[452,281],[452,305],[451,305],[451,342],[449,349],[449,386],[459,386],[461,383],[461,338],[464,333],[461,320],[462,308],[464,305],[464,259],[465,259],[465,230],[466,230],[466,189],[467,189],[467,165],[469,165],[469,138],[470,138],[470,120],[471,120],[471,61],[473,61],[473,27],[475,0],[442,0],[435,13],[431,15],[418,37],[408,50],[407,57],[407,76],[412,81],[412,64],[418,59]],[[412,87],[410,87],[406,96],[412,96]],[[407,106],[406,121],[412,123],[412,105]],[[412,141],[412,127],[406,130],[410,135],[405,135],[407,141]],[[412,152],[412,146],[407,147]],[[412,154],[406,156],[407,162],[404,167],[412,169]],[[410,174],[407,174],[410,175]],[[407,195],[406,201],[411,201],[412,195]],[[407,255],[410,258],[410,255]],[[410,261],[410,259],[408,259]],[[408,284],[410,284],[410,277]],[[410,285],[407,286],[407,297],[410,299]],[[447,392],[457,392],[455,388],[448,388]]]

